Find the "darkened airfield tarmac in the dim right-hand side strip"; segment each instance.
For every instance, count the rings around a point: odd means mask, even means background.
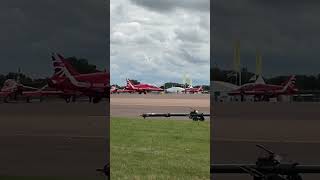
[[[255,163],[262,144],[283,161],[320,165],[319,103],[212,104],[211,162]],[[305,174],[304,179],[319,179]],[[215,180],[248,180],[249,175],[215,175]]]

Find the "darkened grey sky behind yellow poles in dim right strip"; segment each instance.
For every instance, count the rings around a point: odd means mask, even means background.
[[[233,43],[240,40],[243,66],[255,71],[262,52],[263,74],[320,73],[320,2],[313,0],[212,1],[215,63],[232,68]]]

